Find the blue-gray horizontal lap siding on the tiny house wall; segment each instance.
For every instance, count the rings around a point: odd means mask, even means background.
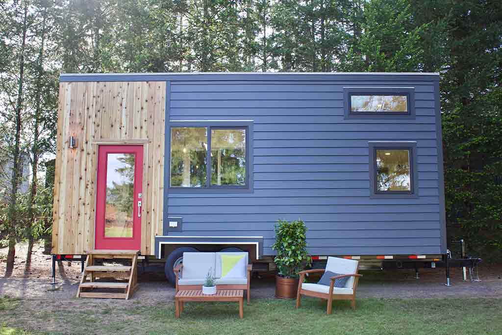
[[[253,120],[254,190],[168,193],[186,236],[263,236],[301,217],[313,255],[441,253],[434,77],[171,82],[169,120]],[[413,78],[411,78],[413,79]],[[343,87],[414,87],[415,119],[345,120]],[[368,141],[416,141],[417,198],[369,198]]]

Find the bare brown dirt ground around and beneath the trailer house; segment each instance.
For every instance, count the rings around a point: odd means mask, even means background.
[[[159,304],[171,303],[174,288],[165,280],[163,269],[140,273],[140,287],[131,300],[76,299],[80,280],[80,264],[61,262],[56,270],[56,285],[51,285],[51,260],[44,255],[43,245],[34,249],[33,262],[27,268],[26,246],[19,245],[16,267],[10,276],[5,276],[6,249],[0,249],[0,297],[21,298],[23,308],[16,310],[16,317],[29,323],[29,329],[59,331],[61,324],[50,315],[59,315],[74,311],[85,314],[86,319],[95,320],[97,311],[109,314],[110,320],[136,319],[134,313],[117,313],[116,308],[151,308]],[[502,298],[502,266],[488,266],[481,263],[479,277],[481,282],[462,282],[460,269],[452,269],[452,286],[446,287],[444,269],[420,270],[420,279],[414,279],[414,270],[362,270],[362,279],[357,290],[359,299],[363,298]],[[254,278],[251,285],[253,299],[273,298],[275,293],[274,278],[270,274],[261,274],[261,279]],[[36,312],[36,319],[32,315]],[[82,314],[82,315],[83,315]],[[43,321],[38,325],[39,320]],[[102,320],[103,318],[99,318]],[[105,321],[103,321],[105,322]],[[110,321],[111,322],[111,321]],[[141,323],[141,320],[138,320]],[[134,327],[133,327],[134,328]],[[136,329],[128,329],[134,332]],[[67,329],[68,330],[68,329]],[[113,333],[112,329],[109,329]],[[68,330],[69,331],[69,330]],[[66,331],[64,331],[66,332]],[[71,332],[71,331],[69,331]]]

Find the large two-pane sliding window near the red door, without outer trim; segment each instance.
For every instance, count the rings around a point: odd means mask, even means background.
[[[172,188],[246,188],[247,127],[171,127]]]

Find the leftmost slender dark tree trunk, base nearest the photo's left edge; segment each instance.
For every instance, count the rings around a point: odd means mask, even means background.
[[[11,273],[14,269],[14,259],[16,257],[16,242],[17,242],[17,213],[16,205],[18,200],[18,187],[19,187],[19,169],[20,165],[20,143],[21,143],[21,113],[23,110],[23,84],[25,75],[25,48],[26,48],[26,33],[28,21],[28,5],[25,4],[24,17],[23,17],[23,38],[21,42],[21,50],[19,55],[19,85],[18,85],[18,98],[16,100],[15,110],[15,126],[16,136],[14,140],[14,153],[13,153],[13,169],[11,179],[11,201],[9,204],[9,251],[7,254],[7,273]]]

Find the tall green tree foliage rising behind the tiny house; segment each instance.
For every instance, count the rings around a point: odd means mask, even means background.
[[[464,238],[469,253],[497,259],[501,27],[499,0],[3,1],[2,140],[8,149],[21,59],[22,144],[30,147],[30,106],[42,97],[49,130],[42,154],[54,152],[60,72],[439,72],[449,240]],[[42,72],[35,71],[39,52]],[[34,88],[38,73],[42,90]]]

